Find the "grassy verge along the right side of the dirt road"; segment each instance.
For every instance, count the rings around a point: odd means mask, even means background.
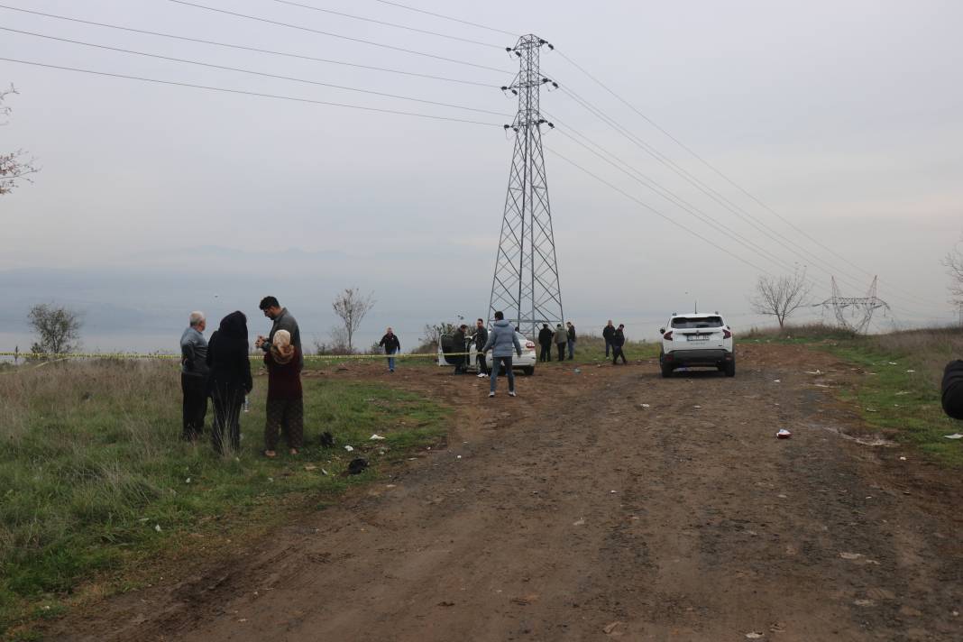
[[[750,334],[744,341],[804,345],[864,370],[840,397],[857,406],[867,424],[935,462],[963,468],[963,444],[945,438],[963,431],[963,425],[948,418],[940,405],[943,368],[963,356],[959,328],[858,336],[832,326],[790,326],[782,333]]]

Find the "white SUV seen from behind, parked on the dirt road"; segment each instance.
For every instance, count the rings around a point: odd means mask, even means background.
[[[690,366],[715,367],[726,376],[736,376],[732,329],[719,313],[673,314],[668,326],[659,331],[663,335],[659,354],[663,376]]]

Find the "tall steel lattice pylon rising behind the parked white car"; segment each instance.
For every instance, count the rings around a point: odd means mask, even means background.
[[[539,323],[554,327],[564,319],[541,145],[541,126],[555,125],[539,111],[542,85],[559,85],[538,70],[539,52],[545,45],[554,49],[545,40],[528,35],[518,39],[514,47],[506,47],[518,58],[519,71],[511,85],[502,90],[518,96],[518,114],[505,126],[506,131],[510,128],[515,132],[515,151],[488,301],[489,321],[502,310],[506,319],[528,332],[530,338]]]

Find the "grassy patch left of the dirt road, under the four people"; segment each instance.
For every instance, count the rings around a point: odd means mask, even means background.
[[[436,403],[330,378],[304,380],[306,448],[291,456],[282,440],[268,460],[260,456],[264,377],[242,416],[240,451],[221,457],[207,441],[178,440],[179,374],[169,363],[0,376],[0,633],[59,615],[85,584],[136,585],[159,553],[269,525],[285,507],[323,507],[375,478],[379,463],[443,435],[448,410]],[[321,448],[322,430],[334,449]],[[386,439],[370,441],[375,432]],[[342,476],[355,456],[372,468]]]

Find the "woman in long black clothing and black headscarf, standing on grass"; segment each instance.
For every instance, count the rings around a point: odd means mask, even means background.
[[[247,317],[232,312],[221,319],[207,345],[208,387],[214,401],[211,441],[221,454],[225,439],[234,451],[241,446],[241,407],[251,389],[247,352]]]

